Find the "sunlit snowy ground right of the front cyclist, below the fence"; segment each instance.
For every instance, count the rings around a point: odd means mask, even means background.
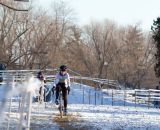
[[[78,120],[99,130],[159,130],[160,111],[147,108],[117,107],[110,105],[70,105],[80,113]],[[82,124],[79,124],[82,127]],[[93,129],[93,128],[92,128]]]

